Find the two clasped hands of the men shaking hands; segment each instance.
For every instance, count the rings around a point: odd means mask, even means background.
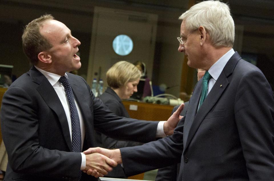
[[[84,154],[86,154],[86,168],[82,171],[96,178],[103,177],[112,171],[112,167],[122,163],[120,149],[109,150],[96,147],[89,148],[84,151]]]

